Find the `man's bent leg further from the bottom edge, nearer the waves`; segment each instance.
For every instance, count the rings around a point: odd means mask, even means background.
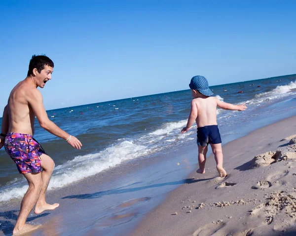
[[[42,173],[43,186],[36,203],[36,207],[34,211],[36,214],[40,214],[44,210],[54,210],[59,206],[58,203],[54,203],[52,205],[48,204],[46,203],[46,200],[45,200],[46,190],[47,190],[47,187],[51,178],[51,174],[54,168],[54,161],[53,159],[51,159],[51,157],[47,156],[46,154],[42,154],[40,159],[41,159],[41,167],[42,167],[41,173]]]

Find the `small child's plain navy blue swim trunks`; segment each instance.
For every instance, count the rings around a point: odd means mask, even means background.
[[[197,145],[205,147],[209,143],[222,143],[218,125],[207,125],[197,128]]]

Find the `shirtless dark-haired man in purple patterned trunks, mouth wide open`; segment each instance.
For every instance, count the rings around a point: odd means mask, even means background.
[[[53,135],[65,139],[73,148],[81,149],[80,141],[48,119],[43,106],[42,95],[37,87],[43,88],[51,79],[53,62],[45,55],[33,55],[27,78],[19,82],[11,91],[4,108],[0,148],[16,163],[21,174],[29,183],[21,209],[13,229],[13,235],[32,231],[36,226],[25,224],[34,205],[35,213],[53,210],[58,203],[48,204],[45,193],[54,168],[54,161],[47,156],[33,138],[35,116],[42,128]],[[42,171],[41,171],[42,170]]]

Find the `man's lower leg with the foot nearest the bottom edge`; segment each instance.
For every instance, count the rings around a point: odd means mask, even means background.
[[[42,176],[41,173],[28,173],[24,174],[24,176],[29,183],[29,188],[22,200],[21,210],[13,229],[13,235],[20,231],[26,232],[36,228],[36,226],[27,225],[25,223],[40,194],[43,185]]]

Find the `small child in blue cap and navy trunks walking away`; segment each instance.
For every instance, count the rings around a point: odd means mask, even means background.
[[[194,121],[197,124],[197,145],[198,163],[197,173],[205,173],[206,154],[208,145],[212,147],[217,163],[217,170],[220,177],[227,175],[223,168],[222,141],[217,125],[217,106],[225,110],[245,111],[245,104],[233,105],[220,101],[217,97],[210,97],[213,92],[209,89],[209,84],[203,76],[194,76],[189,84],[193,100],[191,101],[191,111],[186,127],[182,133],[187,132]]]

